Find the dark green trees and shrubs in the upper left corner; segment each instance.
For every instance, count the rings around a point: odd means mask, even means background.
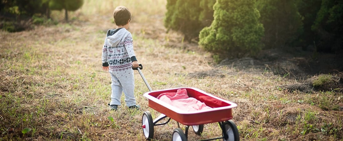
[[[65,10],[68,22],[68,11],[81,8],[83,0],[1,0],[0,28],[9,32],[32,29],[32,24],[50,22],[51,10]]]

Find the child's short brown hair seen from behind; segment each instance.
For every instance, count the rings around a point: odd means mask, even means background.
[[[118,6],[113,12],[113,18],[116,25],[123,26],[131,21],[131,12],[127,7]]]

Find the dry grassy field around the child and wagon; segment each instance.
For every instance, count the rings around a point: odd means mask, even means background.
[[[257,58],[216,63],[196,42],[167,32],[165,0],[85,0],[70,12],[69,23],[54,11],[58,25],[0,31],[0,141],[145,140],[142,113],[159,113],[147,106],[142,95],[149,90],[137,71],[141,110],[128,109],[124,97],[118,111],[107,105],[111,81],[101,51],[118,5],[133,15],[129,31],[152,90],[195,87],[236,103],[232,121],[240,140],[342,141],[342,53],[267,50]],[[176,127],[173,120],[156,126],[153,140],[171,140]],[[190,132],[188,140],[221,135],[216,123],[206,124],[202,136]]]

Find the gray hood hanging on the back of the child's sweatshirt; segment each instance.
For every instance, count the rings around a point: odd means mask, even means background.
[[[111,47],[115,47],[119,44],[120,40],[123,37],[125,37],[124,35],[126,33],[127,33],[127,30],[125,28],[118,28],[117,30],[109,30],[107,32],[107,35],[110,34],[110,36],[107,36],[106,40]]]

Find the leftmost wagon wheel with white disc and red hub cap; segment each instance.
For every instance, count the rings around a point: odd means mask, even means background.
[[[143,113],[142,128],[145,138],[151,140],[154,137],[154,122],[150,111],[144,111]]]

